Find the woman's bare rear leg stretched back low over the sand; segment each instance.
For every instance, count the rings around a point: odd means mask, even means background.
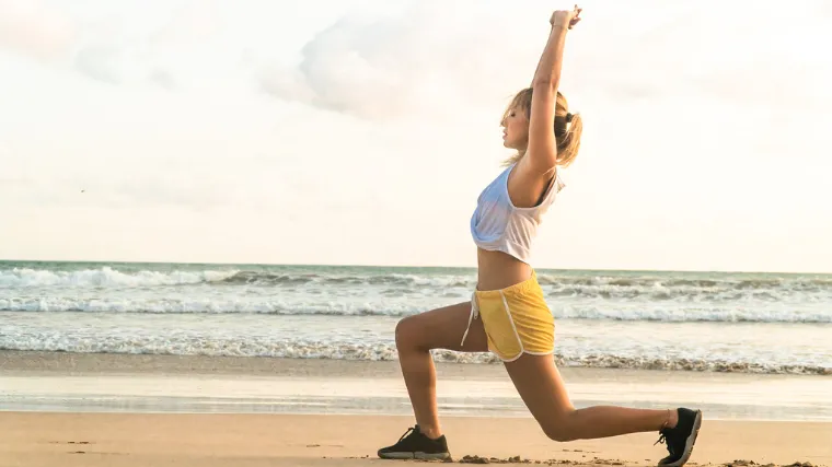
[[[511,381],[543,432],[555,441],[588,440],[673,428],[675,410],[596,406],[576,410],[552,355],[506,363]]]

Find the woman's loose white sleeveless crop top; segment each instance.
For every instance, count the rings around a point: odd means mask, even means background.
[[[518,208],[508,196],[508,176],[513,167],[515,164],[506,168],[479,194],[471,217],[471,235],[476,246],[483,249],[502,252],[529,264],[541,217],[566,184],[555,173],[553,186],[538,206]]]

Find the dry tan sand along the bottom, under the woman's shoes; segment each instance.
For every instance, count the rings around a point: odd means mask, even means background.
[[[408,417],[0,412],[0,466],[394,466],[375,458]],[[465,455],[578,466],[655,465],[655,433],[555,443],[531,419],[447,418]],[[832,465],[832,423],[705,421],[691,464]],[[413,462],[404,462],[414,465]],[[418,463],[423,464],[423,463]],[[744,464],[750,465],[750,463]]]

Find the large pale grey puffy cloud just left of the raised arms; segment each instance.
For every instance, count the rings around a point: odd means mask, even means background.
[[[264,69],[259,85],[281,100],[374,120],[455,113],[531,78],[540,49],[495,33],[515,24],[502,13],[511,15],[493,4],[435,0],[350,12],[303,46],[297,67]],[[516,39],[544,40],[547,24],[538,23]]]

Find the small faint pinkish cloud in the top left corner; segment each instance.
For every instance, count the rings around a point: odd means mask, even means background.
[[[72,22],[37,0],[0,0],[0,47],[39,59],[55,59],[76,38]]]

